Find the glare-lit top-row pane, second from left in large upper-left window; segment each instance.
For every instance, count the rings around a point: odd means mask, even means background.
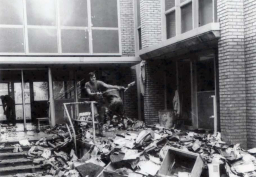
[[[55,1],[26,0],[28,25],[56,25]]]

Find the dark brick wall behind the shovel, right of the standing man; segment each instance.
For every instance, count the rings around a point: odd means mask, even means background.
[[[125,78],[124,87],[126,87],[127,84],[136,81],[135,66],[124,69],[123,74]],[[138,97],[136,84],[124,93],[124,106],[127,117],[132,119],[138,118]]]

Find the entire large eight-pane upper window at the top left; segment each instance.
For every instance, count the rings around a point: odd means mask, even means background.
[[[1,0],[0,54],[120,55],[119,0]]]

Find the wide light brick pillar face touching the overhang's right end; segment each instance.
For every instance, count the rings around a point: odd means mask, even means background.
[[[224,141],[247,148],[243,0],[218,0],[220,127]]]

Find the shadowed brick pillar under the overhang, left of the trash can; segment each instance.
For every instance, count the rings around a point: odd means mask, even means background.
[[[147,61],[144,94],[144,115],[146,124],[156,124],[158,111],[164,109],[163,66],[160,61]]]

